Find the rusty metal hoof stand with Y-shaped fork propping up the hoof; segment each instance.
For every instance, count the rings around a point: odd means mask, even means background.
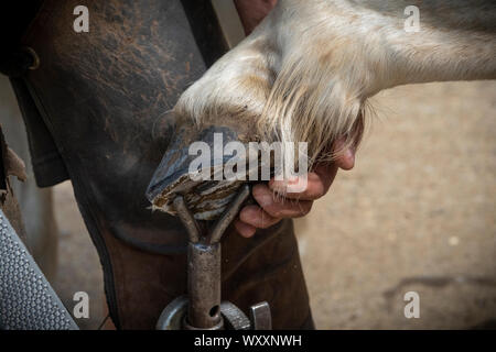
[[[179,218],[186,228],[187,297],[170,302],[157,323],[158,330],[270,330],[267,301],[250,308],[250,319],[234,304],[220,300],[220,239],[250,195],[244,185],[212,231],[203,231],[186,207],[183,196],[174,198]]]

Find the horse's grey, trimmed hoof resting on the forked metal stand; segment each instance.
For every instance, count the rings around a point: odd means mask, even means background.
[[[175,216],[173,200],[176,195],[182,195],[196,220],[217,219],[246,183],[223,177],[225,163],[233,158],[231,155],[224,155],[224,147],[229,142],[247,144],[244,135],[228,127],[216,125],[200,132],[181,130],[165,151],[147,189],[152,208]],[[201,144],[193,145],[195,141]],[[191,169],[192,165],[198,164],[197,146],[202,148],[202,154],[205,153],[202,155],[204,163],[200,168]],[[201,179],[197,177],[198,170],[203,175]]]

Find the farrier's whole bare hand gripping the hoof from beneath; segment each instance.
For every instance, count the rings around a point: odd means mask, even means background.
[[[257,229],[269,228],[283,218],[300,218],[309,213],[315,199],[323,197],[330,189],[337,168],[352,169],[355,165],[355,151],[345,150],[335,162],[317,165],[308,174],[308,186],[302,193],[288,193],[284,198],[274,193],[283,186],[272,178],[268,185],[259,184],[252,189],[258,206],[246,206],[235,221],[236,230],[245,238],[250,238]]]

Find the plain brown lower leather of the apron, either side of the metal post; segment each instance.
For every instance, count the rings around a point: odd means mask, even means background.
[[[186,255],[140,252],[109,232],[103,235],[112,257],[120,328],[152,329],[162,309],[186,294]],[[267,300],[273,329],[313,328],[292,221],[259,231],[254,239],[230,228],[222,243],[224,300],[246,314]]]

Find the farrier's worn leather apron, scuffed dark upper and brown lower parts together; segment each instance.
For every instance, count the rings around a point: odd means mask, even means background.
[[[89,9],[89,33],[73,31],[73,9]],[[41,65],[23,79],[53,136],[104,266],[118,328],[151,329],[185,293],[185,232],[152,212],[144,194],[174,138],[166,114],[206,69],[176,0],[45,1],[22,45]],[[223,294],[246,309],[272,305],[276,328],[309,317],[290,221],[223,249]]]

